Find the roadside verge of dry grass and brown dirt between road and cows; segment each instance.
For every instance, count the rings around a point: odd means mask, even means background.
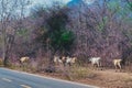
[[[114,69],[92,70],[89,67],[74,65],[72,67],[58,65],[55,67],[55,73],[37,72],[37,63],[32,63],[25,69],[16,64],[10,64],[10,68],[24,70],[30,73],[37,73],[44,76],[62,78],[89,85],[99,86],[100,88],[132,88],[132,73],[116,73]],[[44,65],[44,66],[43,66]],[[41,65],[45,67],[45,64]]]

